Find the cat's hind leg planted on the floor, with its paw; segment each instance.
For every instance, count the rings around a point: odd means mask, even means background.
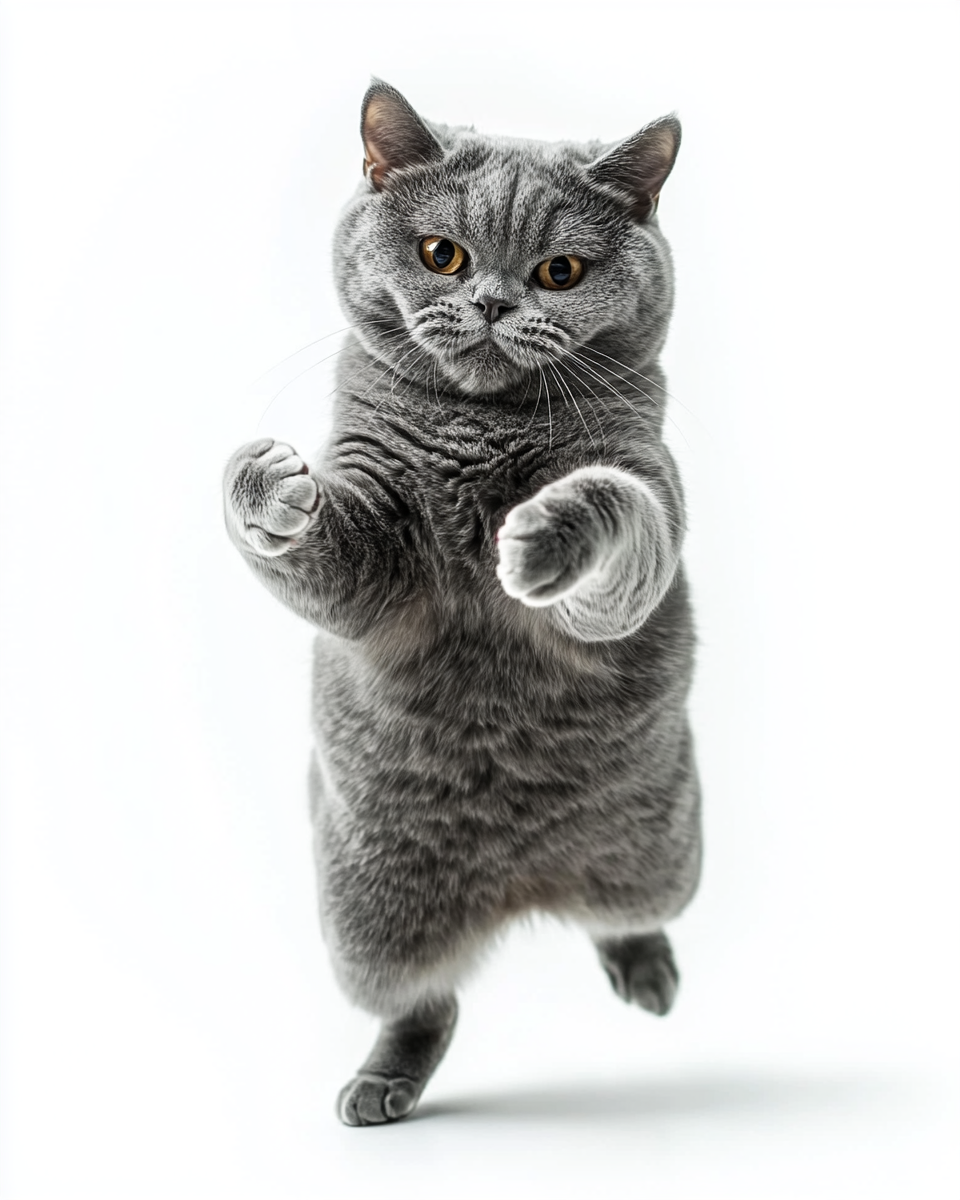
[[[450,1045],[456,1020],[452,995],[422,1001],[406,1015],[385,1020],[367,1061],[340,1093],[340,1120],[365,1126],[409,1116]]]

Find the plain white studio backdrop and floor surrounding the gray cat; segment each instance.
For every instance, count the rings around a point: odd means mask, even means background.
[[[4,25],[4,1200],[956,1195],[958,7]],[[517,930],[420,1115],[355,1130],[373,1022],[314,916],[311,635],[220,476],[258,431],[323,437],[337,337],[277,364],[343,325],[371,73],[491,132],[684,121],[707,864],[667,1020],[576,930]]]

